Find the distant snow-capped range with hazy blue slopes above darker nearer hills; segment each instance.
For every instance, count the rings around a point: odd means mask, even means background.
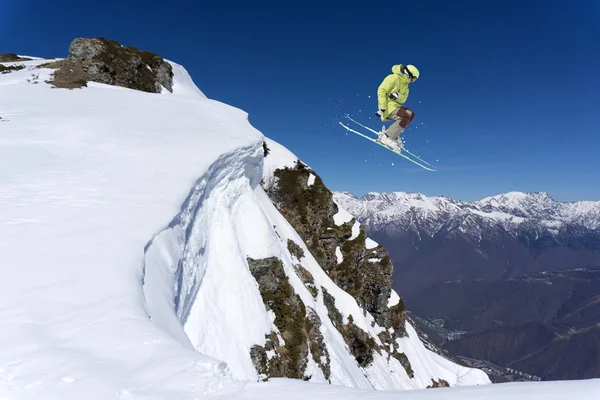
[[[511,192],[473,202],[419,193],[339,192],[335,201],[384,245],[397,290],[600,265],[600,202]]]

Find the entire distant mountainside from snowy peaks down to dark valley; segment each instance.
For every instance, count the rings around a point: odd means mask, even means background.
[[[411,311],[443,321],[444,348],[543,379],[597,376],[600,202],[520,192],[334,198],[388,249]]]

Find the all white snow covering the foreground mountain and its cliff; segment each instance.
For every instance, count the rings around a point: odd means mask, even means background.
[[[383,328],[331,281],[260,186],[294,165],[291,152],[243,111],[207,99],[174,63],[174,93],[150,94],[52,89],[51,71],[34,69],[43,62],[0,75],[0,398],[562,400],[600,390],[597,380],[486,385],[483,372],[426,349],[409,323],[398,346],[415,378],[385,351],[360,368],[322,290],[315,299],[296,275],[287,239],[344,320],[352,315],[376,341]],[[348,216],[340,209],[336,223]],[[324,377],[314,363],[309,383],[249,383],[258,378],[249,348],[276,328],[247,257],[269,256],[322,321],[333,385],[316,383]],[[392,292],[388,304],[399,299]],[[483,386],[372,390],[431,378]]]

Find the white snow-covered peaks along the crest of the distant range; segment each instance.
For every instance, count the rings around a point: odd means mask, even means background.
[[[600,229],[600,201],[560,202],[546,193],[509,192],[463,202],[419,193],[371,192],[357,198],[338,192],[335,199],[368,225],[381,227],[393,223],[397,229],[407,230],[419,221],[429,235],[434,235],[448,221],[455,219],[467,224],[469,218],[478,221],[474,224],[476,231],[471,232],[474,236],[480,236],[479,230],[489,225],[501,226],[508,232],[531,223],[551,233],[569,224]],[[466,226],[463,229],[469,230]]]

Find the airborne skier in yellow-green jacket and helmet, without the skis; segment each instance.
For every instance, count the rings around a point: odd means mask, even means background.
[[[377,90],[379,110],[375,113],[383,122],[395,121],[386,130],[385,126],[378,134],[377,141],[399,151],[403,144],[400,134],[415,117],[415,112],[404,107],[408,98],[408,84],[419,78],[419,70],[414,65],[397,64],[392,73],[385,77]]]

